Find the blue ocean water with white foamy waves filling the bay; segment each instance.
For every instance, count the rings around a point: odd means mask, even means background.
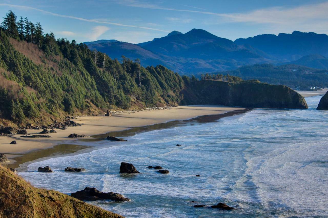
[[[126,217],[327,217],[328,112],[314,110],[320,98],[305,98],[306,110],[254,109],[137,133],[127,142],[89,142],[103,146],[31,163],[19,175],[67,194],[86,186],[121,193],[131,201],[89,203]],[[121,162],[141,174],[119,174]],[[147,168],[157,165],[170,173]],[[36,172],[40,166],[54,173]],[[87,172],[64,172],[68,166]],[[219,202],[236,209],[193,207]]]

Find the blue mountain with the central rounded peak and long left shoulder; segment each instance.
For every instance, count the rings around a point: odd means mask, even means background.
[[[246,64],[276,63],[269,55],[251,46],[239,46],[202,29],[182,34],[173,31],[162,38],[137,45],[130,43],[92,43],[90,49],[121,60],[124,55],[139,58],[143,66],[162,64],[181,74],[236,69]]]

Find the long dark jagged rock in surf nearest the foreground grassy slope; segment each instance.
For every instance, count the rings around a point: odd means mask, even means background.
[[[123,197],[123,195],[114,192],[102,192],[96,188],[86,187],[82,191],[76,191],[71,194],[72,197],[82,201],[97,201],[97,200],[112,200],[112,201],[130,201],[129,198]]]

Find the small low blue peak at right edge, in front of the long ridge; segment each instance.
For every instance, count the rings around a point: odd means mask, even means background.
[[[304,57],[301,57],[296,61],[291,61],[284,64],[297,64],[297,65],[308,66],[317,69],[328,69],[328,58],[319,54],[312,54],[312,55],[306,55]]]

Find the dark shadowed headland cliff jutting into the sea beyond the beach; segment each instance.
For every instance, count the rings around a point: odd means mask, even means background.
[[[257,80],[191,82],[183,91],[186,104],[223,104],[249,108],[308,108],[304,98],[283,85],[269,85]]]

